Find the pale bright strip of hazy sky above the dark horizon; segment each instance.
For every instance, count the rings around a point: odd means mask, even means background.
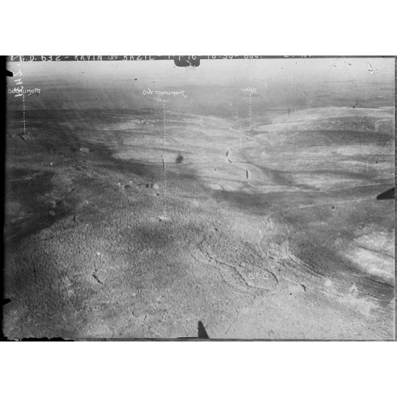
[[[369,70],[369,65],[373,73]],[[17,70],[16,63],[9,63],[10,70]],[[240,84],[260,80],[362,80],[376,83],[394,78],[393,58],[319,58],[319,59],[257,59],[257,60],[201,60],[198,68],[177,68],[173,60],[152,61],[65,61],[21,63],[25,77],[97,80],[153,79],[162,85],[186,84]]]

